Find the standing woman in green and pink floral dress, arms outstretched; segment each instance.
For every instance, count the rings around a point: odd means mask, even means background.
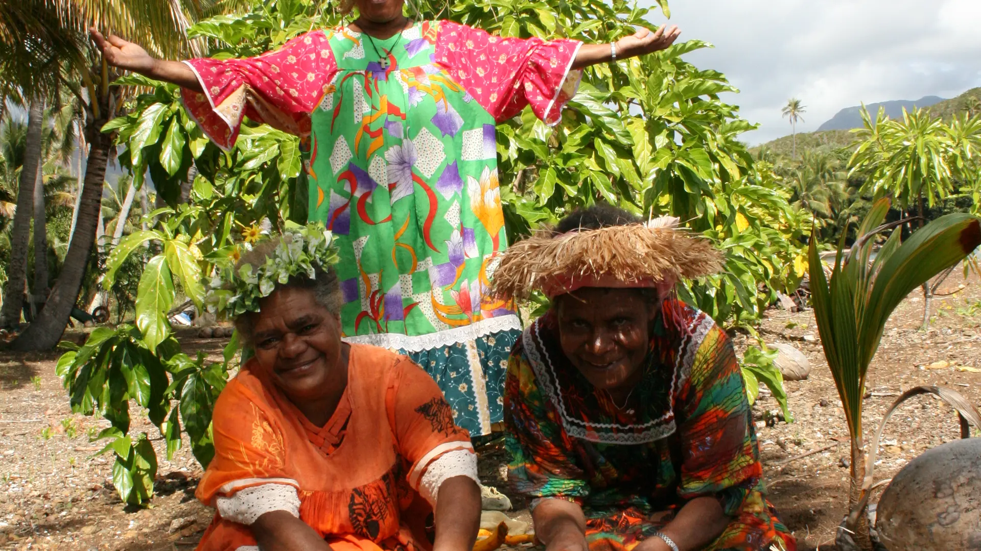
[[[506,248],[495,125],[531,105],[556,124],[580,72],[670,46],[677,27],[613,44],[502,38],[413,22],[404,0],[354,0],[350,25],[241,60],[151,58],[92,37],[108,63],[183,88],[187,111],[223,149],[242,118],[294,133],[313,185],[310,221],[337,236],[349,343],[408,355],[439,383],[472,435],[502,419],[513,305],[488,292]]]

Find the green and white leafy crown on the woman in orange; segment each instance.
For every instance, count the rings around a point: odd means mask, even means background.
[[[289,281],[293,275],[316,277],[316,268],[327,270],[336,264],[337,249],[334,237],[323,224],[296,225],[287,223],[276,248],[258,267],[241,264],[235,269],[230,256],[220,265],[218,275],[211,278],[205,298],[208,311],[223,313],[232,318],[246,312],[259,312],[259,300],[272,294],[277,283]],[[260,241],[256,246],[262,246]]]

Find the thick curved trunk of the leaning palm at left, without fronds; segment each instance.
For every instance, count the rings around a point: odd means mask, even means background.
[[[85,182],[81,190],[81,204],[78,209],[78,223],[75,235],[69,243],[68,254],[61,274],[55,282],[48,302],[40,315],[34,320],[11,347],[15,350],[49,350],[54,348],[65,332],[72,309],[78,300],[81,280],[95,243],[95,232],[102,209],[102,189],[106,180],[106,165],[112,150],[112,137],[100,129],[112,119],[109,94],[94,94],[91,101],[99,102],[100,117],[96,120],[91,111],[86,114],[86,133],[88,134],[88,163],[85,167]]]

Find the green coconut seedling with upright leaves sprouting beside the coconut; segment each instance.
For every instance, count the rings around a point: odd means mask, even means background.
[[[843,232],[830,277],[824,274],[816,234],[810,239],[808,271],[814,317],[851,438],[850,510],[861,499],[865,477],[861,426],[865,375],[886,322],[907,294],[961,262],[981,244],[979,219],[959,213],[923,226],[903,242],[895,228],[905,221],[883,225],[889,208],[888,199],[872,206],[849,252],[845,250],[848,231]],[[892,234],[873,259],[873,238],[890,230]],[[850,516],[845,527],[861,548],[872,548],[864,515]]]

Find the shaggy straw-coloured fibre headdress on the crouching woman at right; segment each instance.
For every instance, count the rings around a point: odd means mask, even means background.
[[[721,269],[721,251],[684,229],[632,224],[556,235],[548,228],[508,248],[491,286],[497,297],[520,299],[558,279],[677,281]]]

